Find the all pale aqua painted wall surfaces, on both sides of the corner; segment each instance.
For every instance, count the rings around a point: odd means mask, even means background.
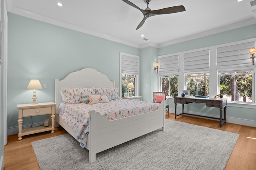
[[[8,13],[8,128],[18,126],[16,105],[32,101],[32,90],[26,89],[30,79],[40,79],[42,86],[48,84],[48,89],[37,90],[38,102],[54,102],[54,79],[63,79],[68,73],[86,67],[106,74],[120,87],[123,52],[140,56],[140,95],[151,102],[152,92],[158,90],[153,69],[158,55],[255,38],[255,30],[256,24],[159,49],[138,49]],[[174,104],[170,103],[173,109]],[[200,104],[187,105],[185,109],[218,115],[218,109]],[[255,109],[228,107],[228,116],[256,121]],[[44,118],[33,117],[33,123]],[[24,118],[23,125],[30,124],[31,118]]]

